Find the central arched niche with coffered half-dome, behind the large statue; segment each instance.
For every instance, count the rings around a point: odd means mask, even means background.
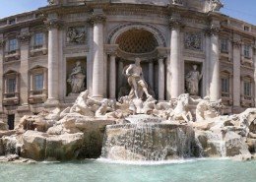
[[[108,36],[108,43],[117,45],[116,51],[116,96],[129,93],[127,78],[123,70],[134,63],[135,57],[142,59],[144,79],[148,83],[149,91],[154,96],[159,95],[159,50],[166,43],[160,30],[143,24],[126,24],[117,27]],[[164,89],[163,89],[164,90]]]

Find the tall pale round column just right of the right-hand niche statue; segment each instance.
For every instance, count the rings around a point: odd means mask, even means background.
[[[219,58],[219,28],[212,26],[210,35],[210,98],[213,101],[220,99],[220,58]]]

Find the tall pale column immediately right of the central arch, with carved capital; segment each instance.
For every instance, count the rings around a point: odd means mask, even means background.
[[[182,27],[181,21],[178,17],[173,17],[169,20],[171,28],[170,39],[170,74],[171,74],[171,98],[177,98],[183,91],[182,75],[180,74],[181,68],[181,52],[180,52],[180,29]]]

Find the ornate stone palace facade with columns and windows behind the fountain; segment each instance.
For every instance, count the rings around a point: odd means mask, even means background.
[[[0,113],[66,107],[81,91],[118,99],[139,57],[150,94],[223,99],[225,113],[255,105],[256,27],[219,12],[219,0],[48,0],[0,20]]]

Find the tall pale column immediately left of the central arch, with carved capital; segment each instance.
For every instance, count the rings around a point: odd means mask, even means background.
[[[102,10],[94,10],[94,15],[89,22],[94,26],[93,97],[102,98],[104,84],[103,23],[105,22]]]

